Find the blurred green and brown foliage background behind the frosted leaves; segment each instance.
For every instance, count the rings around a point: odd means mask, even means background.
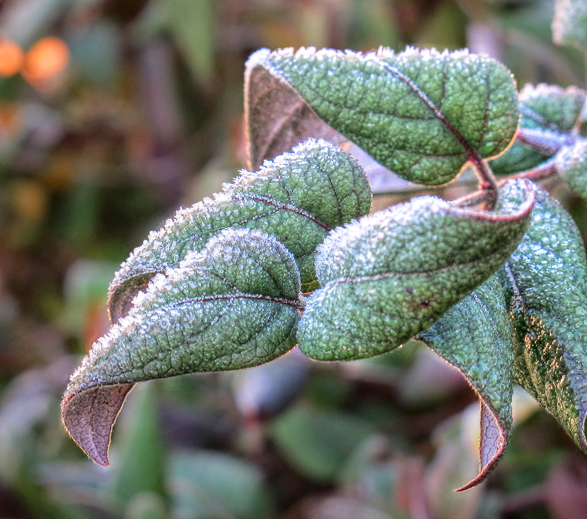
[[[477,402],[416,342],[140,384],[107,469],[59,413],[119,263],[244,167],[252,51],[468,46],[520,87],[584,86],[584,56],[551,43],[552,4],[0,1],[0,518],[587,517],[587,459],[523,391],[498,469],[451,491],[476,474]],[[583,203],[549,188],[585,229]]]

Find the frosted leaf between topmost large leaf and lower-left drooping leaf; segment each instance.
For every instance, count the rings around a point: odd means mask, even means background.
[[[180,209],[115,274],[109,291],[112,321],[126,315],[137,291],[157,272],[177,267],[227,228],[275,235],[298,261],[303,291],[315,289],[314,253],[330,229],[369,213],[369,182],[357,162],[323,140],[308,140],[258,172],[241,171],[224,192]]]

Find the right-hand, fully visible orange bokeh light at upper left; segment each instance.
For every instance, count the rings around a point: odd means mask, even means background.
[[[68,63],[68,46],[62,39],[48,36],[26,53],[22,75],[29,83],[45,83],[62,72]]]

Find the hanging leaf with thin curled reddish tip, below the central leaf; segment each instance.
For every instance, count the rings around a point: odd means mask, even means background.
[[[447,311],[418,338],[458,368],[480,399],[481,435],[478,476],[458,490],[481,483],[508,443],[512,425],[510,320],[497,276]]]

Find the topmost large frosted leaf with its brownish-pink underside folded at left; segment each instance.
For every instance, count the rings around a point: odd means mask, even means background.
[[[470,159],[500,154],[519,117],[510,72],[467,50],[261,49],[247,62],[245,100],[253,164],[286,148],[292,134],[338,143],[340,133],[400,177],[427,185],[452,180]]]

